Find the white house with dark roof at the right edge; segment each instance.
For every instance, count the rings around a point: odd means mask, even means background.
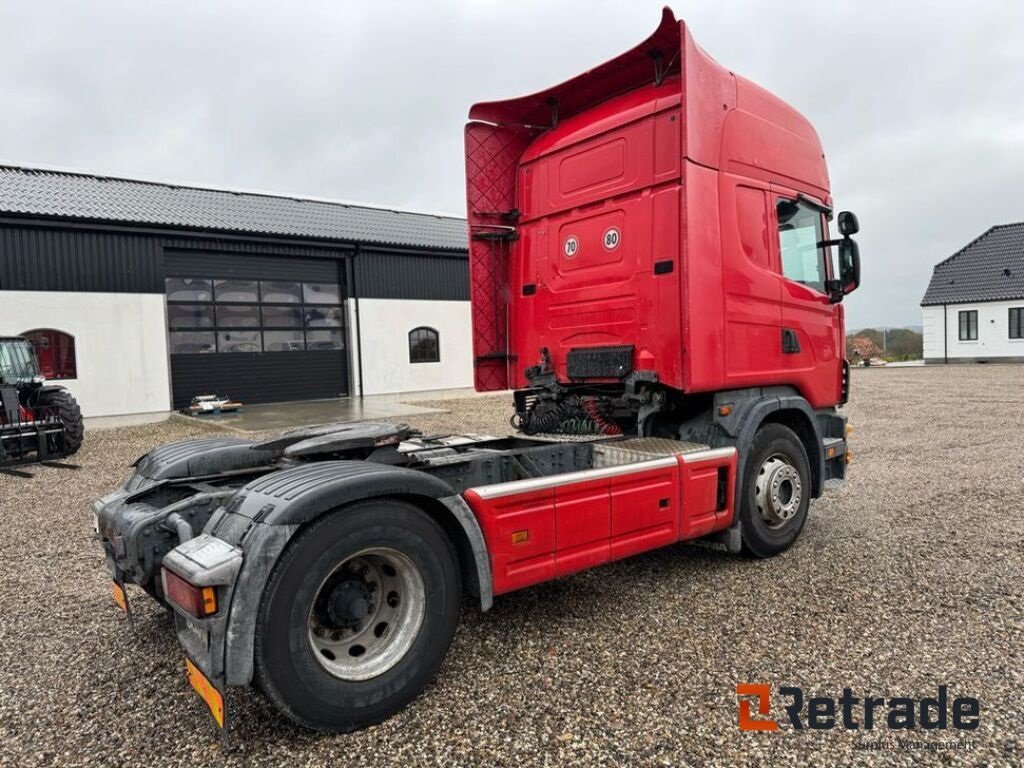
[[[926,362],[1024,362],[1024,222],[936,264],[921,307]]]

